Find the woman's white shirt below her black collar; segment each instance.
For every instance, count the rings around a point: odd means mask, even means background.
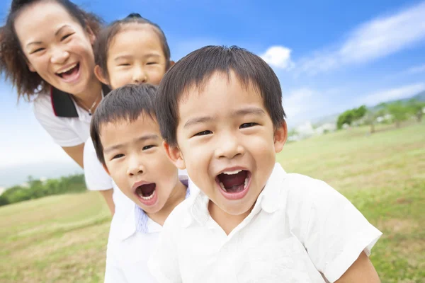
[[[52,99],[48,94],[39,94],[33,102],[34,115],[50,137],[60,146],[84,144],[90,137],[89,112],[74,102],[78,117],[58,117],[53,110]]]

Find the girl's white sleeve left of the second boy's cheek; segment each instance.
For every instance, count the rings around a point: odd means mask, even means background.
[[[84,145],[84,178],[86,178],[86,186],[89,190],[113,188],[112,178],[98,160],[91,138],[87,139]]]

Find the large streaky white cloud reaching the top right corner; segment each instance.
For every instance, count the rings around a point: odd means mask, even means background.
[[[344,64],[370,62],[425,39],[425,1],[390,16],[375,18],[348,33],[333,51],[302,59],[298,72],[317,74]]]

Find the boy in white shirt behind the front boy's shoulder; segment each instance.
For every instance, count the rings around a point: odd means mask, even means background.
[[[132,200],[110,238],[105,282],[155,282],[147,260],[171,210],[189,195],[187,175],[166,156],[154,114],[157,87],[116,88],[102,100],[90,134],[99,161]]]

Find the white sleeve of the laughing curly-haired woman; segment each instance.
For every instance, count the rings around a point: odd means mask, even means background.
[[[78,146],[84,140],[70,129],[63,118],[56,117],[48,96],[39,95],[34,100],[33,111],[40,125],[50,134],[50,137],[62,147]]]

